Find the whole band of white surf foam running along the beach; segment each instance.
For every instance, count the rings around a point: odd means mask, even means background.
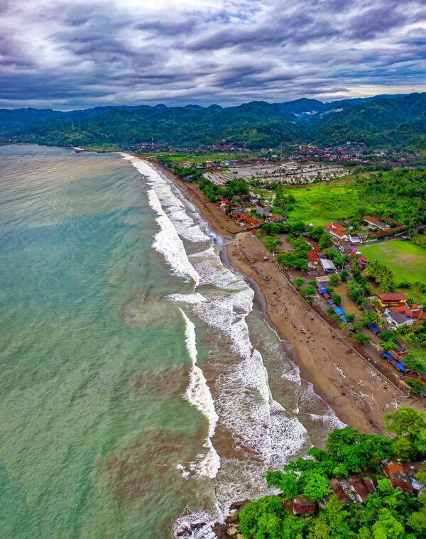
[[[310,440],[295,415],[297,410],[285,410],[273,400],[262,356],[251,344],[246,316],[253,309],[253,290],[224,267],[214,250],[207,225],[200,224],[201,218],[197,222],[194,208],[186,200],[182,201],[170,181],[142,160],[133,159],[132,164],[147,178],[153,192],[151,205],[159,219],[163,217],[159,220],[160,229],[168,234],[168,238],[166,234],[155,237],[155,249],[164,254],[175,273],[203,285],[202,294],[173,294],[168,299],[181,303],[191,317],[197,315],[214,337],[212,346],[217,347],[217,353],[209,354],[209,365],[218,373],[214,385],[214,394],[218,397],[213,401],[204,374],[197,366],[195,327],[182,310],[193,367],[185,396],[209,420],[207,453],[200,454],[190,468],[195,467],[204,477],[215,477],[214,489],[223,516],[232,501],[265,493],[263,474],[266,469],[282,467],[297,452],[307,449]],[[193,218],[188,212],[193,212]],[[187,256],[182,238],[195,246],[200,244],[200,250]],[[220,336],[217,342],[216,336]],[[291,376],[291,380],[300,385],[298,369],[283,376]],[[219,469],[219,456],[212,444],[216,423],[232,432],[236,449],[253,451],[260,459],[222,458]],[[183,473],[187,474],[187,469]],[[175,522],[175,533],[187,525],[200,523],[200,528],[195,526],[197,529],[182,536],[214,537],[207,523],[217,518],[217,514],[209,513],[182,516]]]

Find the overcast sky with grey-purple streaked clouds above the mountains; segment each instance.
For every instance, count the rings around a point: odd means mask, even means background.
[[[425,0],[0,0],[0,107],[425,91]]]

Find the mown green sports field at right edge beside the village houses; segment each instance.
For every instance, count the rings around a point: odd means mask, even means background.
[[[396,281],[426,283],[426,249],[402,239],[381,241],[359,248],[369,260],[377,260],[390,268]]]

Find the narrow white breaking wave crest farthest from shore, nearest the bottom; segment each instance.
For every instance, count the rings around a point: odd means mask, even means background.
[[[200,475],[210,477],[213,479],[216,477],[217,471],[220,467],[220,459],[216,450],[212,444],[212,436],[214,436],[214,430],[216,428],[217,420],[219,419],[214,409],[214,401],[212,393],[210,393],[207,381],[204,378],[204,374],[199,366],[197,366],[197,342],[195,336],[195,325],[185,315],[185,312],[180,309],[183,320],[185,320],[185,342],[187,345],[188,353],[192,361],[192,371],[190,373],[190,385],[187,387],[185,398],[188,402],[195,406],[197,410],[207,418],[209,422],[209,432],[205,447],[208,452],[205,455],[201,455],[198,460],[198,472]]]

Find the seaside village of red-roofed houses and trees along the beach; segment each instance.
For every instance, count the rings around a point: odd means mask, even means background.
[[[366,255],[369,246],[381,242],[408,242],[407,227],[381,215],[322,227],[291,223],[276,213],[276,193],[259,194],[239,178],[218,184],[204,174],[200,185],[241,232],[253,234],[266,246],[271,254],[265,261],[278,263],[297,292],[332,327],[352,337],[373,366],[406,393],[426,397],[426,353],[421,344],[410,341],[412,331],[424,331],[422,293],[413,298],[411,289],[395,290],[395,283],[386,281],[386,266]],[[183,179],[188,180],[185,175]]]

